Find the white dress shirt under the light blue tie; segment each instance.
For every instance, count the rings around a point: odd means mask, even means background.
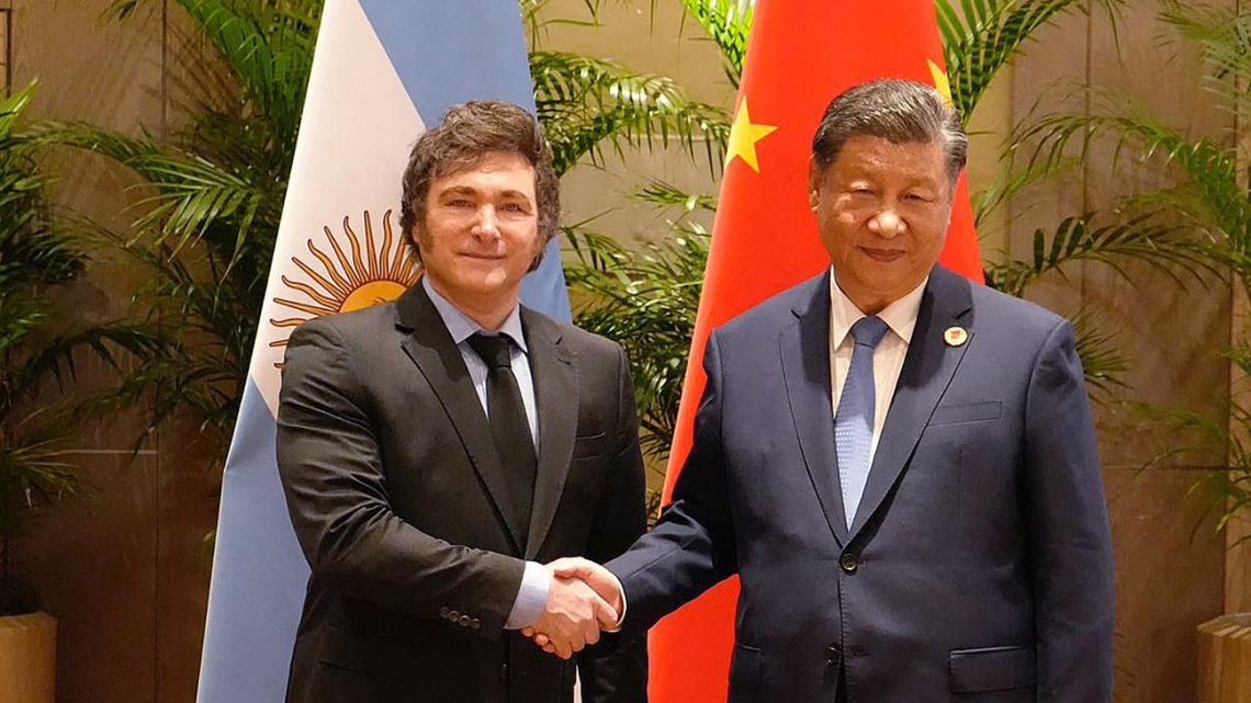
[[[889,328],[877,349],[873,350],[873,442],[869,444],[868,459],[873,463],[877,454],[877,442],[882,438],[882,428],[886,425],[886,413],[891,409],[891,398],[894,397],[894,385],[899,382],[899,370],[903,368],[903,359],[908,355],[908,343],[912,341],[912,330],[917,326],[917,313],[921,310],[921,296],[926,291],[926,276],[921,285],[911,293],[891,303],[877,314]],[[852,365],[852,350],[856,340],[852,339],[851,329],[857,320],[866,316],[864,313],[847,298],[847,294],[838,288],[837,274],[829,276],[829,379],[831,379],[831,422],[838,414],[838,398],[843,393],[843,382],[847,380],[847,369]],[[848,515],[848,520],[851,515]]]

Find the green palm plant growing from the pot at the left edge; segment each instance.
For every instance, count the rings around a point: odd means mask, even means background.
[[[15,573],[15,538],[34,510],[80,488],[66,444],[81,408],[49,403],[49,384],[74,375],[79,349],[114,365],[121,349],[153,349],[140,329],[75,329],[58,315],[50,293],[83,274],[86,255],[49,219],[48,180],[18,131],[33,95],[30,85],[0,103],[0,615],[38,609],[34,589]]]

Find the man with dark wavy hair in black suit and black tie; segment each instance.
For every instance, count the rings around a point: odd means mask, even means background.
[[[559,220],[534,118],[452,108],[400,213],[420,284],[286,350],[279,470],[311,567],[288,700],[557,703],[575,672],[584,700],[642,700],[642,639],[583,650],[618,614],[542,565],[615,557],[646,520],[624,352],[519,304]]]

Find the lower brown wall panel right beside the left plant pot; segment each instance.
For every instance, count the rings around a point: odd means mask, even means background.
[[[45,514],[19,545],[59,620],[59,703],[153,699],[156,680],[156,462],[151,453],[70,457],[94,487]]]

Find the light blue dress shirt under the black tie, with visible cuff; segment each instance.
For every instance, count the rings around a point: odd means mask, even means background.
[[[469,315],[462,313],[447,298],[439,295],[424,276],[422,278],[422,288],[425,289],[430,303],[438,310],[439,318],[443,319],[443,325],[448,328],[452,340],[457,344],[457,349],[460,350],[460,358],[464,359],[465,368],[469,369],[469,378],[473,380],[474,390],[478,392],[478,402],[482,403],[482,412],[487,413],[489,418],[490,412],[487,409],[487,363],[469,346],[469,338],[477,333],[488,335],[497,333],[482,329]],[[525,345],[525,335],[522,333],[520,306],[513,306],[513,311],[508,314],[508,319],[504,320],[498,334],[507,335],[513,340],[513,375],[517,377],[517,385],[522,392],[522,404],[525,405],[525,419],[530,425],[530,437],[534,438],[534,455],[537,457],[539,453],[539,415],[538,405],[534,400],[534,377],[530,374],[529,348]],[[539,619],[539,615],[543,614],[543,608],[547,607],[550,585],[552,577],[543,564],[525,562],[522,588],[513,600],[513,609],[508,613],[504,628],[520,629],[534,624]]]

